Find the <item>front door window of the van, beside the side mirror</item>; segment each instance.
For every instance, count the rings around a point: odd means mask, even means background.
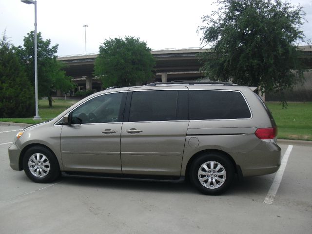
[[[86,101],[71,113],[72,124],[120,122],[123,95],[105,94]]]

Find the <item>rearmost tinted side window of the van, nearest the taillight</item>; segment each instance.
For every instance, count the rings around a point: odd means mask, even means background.
[[[249,107],[240,92],[189,91],[190,120],[250,118]]]

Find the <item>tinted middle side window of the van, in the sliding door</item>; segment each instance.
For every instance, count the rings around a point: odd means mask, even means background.
[[[133,92],[129,122],[180,120],[178,96],[178,90]]]

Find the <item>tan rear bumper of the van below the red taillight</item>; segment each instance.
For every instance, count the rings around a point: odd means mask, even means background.
[[[276,172],[281,165],[281,149],[276,143],[261,142],[253,151],[234,157],[242,176],[262,176]]]

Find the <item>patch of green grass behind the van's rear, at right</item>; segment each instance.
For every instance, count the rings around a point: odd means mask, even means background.
[[[312,102],[289,102],[282,109],[278,102],[266,103],[278,129],[278,139],[312,140]]]

